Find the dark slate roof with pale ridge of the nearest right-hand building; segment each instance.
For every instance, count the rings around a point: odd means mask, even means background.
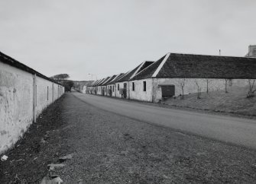
[[[135,75],[143,78],[256,78],[256,59],[169,53]]]

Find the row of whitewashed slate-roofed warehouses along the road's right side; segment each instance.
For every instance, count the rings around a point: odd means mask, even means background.
[[[164,97],[198,90],[247,87],[250,80],[256,79],[255,71],[256,58],[167,53],[156,62],[143,62],[106,84],[109,88],[99,80],[89,85],[87,92],[157,103]],[[105,92],[96,93],[98,89]]]

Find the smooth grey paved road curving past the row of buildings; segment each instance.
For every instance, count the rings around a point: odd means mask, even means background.
[[[254,119],[167,109],[89,94],[73,93],[73,95],[92,106],[132,119],[164,125],[179,131],[190,132],[248,148],[256,148],[256,121]]]

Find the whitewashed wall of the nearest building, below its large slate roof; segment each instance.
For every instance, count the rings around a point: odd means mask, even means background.
[[[170,84],[175,86],[175,96],[182,94],[180,87],[180,78],[147,78],[136,81],[129,81],[129,98],[134,100],[142,100],[157,103],[162,99],[162,90],[160,84]],[[143,81],[146,81],[147,90],[143,91]],[[184,86],[184,94],[197,93],[196,81],[199,84],[202,92],[207,90],[207,82],[205,78],[186,78]],[[134,82],[134,91],[132,83]],[[228,90],[233,87],[247,87],[248,79],[232,79],[228,81]],[[225,79],[209,79],[209,91],[225,90]]]

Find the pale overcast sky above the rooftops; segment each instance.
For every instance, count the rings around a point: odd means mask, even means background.
[[[0,0],[0,51],[47,77],[127,72],[167,52],[245,56],[255,0]]]

